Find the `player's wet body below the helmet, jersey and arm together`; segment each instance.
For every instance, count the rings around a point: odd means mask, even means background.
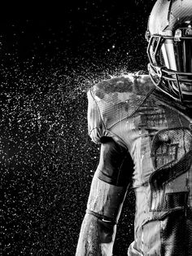
[[[88,99],[89,135],[102,146],[76,255],[112,255],[131,181],[136,214],[128,255],[192,255],[190,110],[148,75],[99,82]]]

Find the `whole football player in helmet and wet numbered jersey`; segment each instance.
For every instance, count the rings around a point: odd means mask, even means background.
[[[128,255],[192,255],[192,1],[158,0],[146,39],[149,75],[111,78],[88,92],[89,135],[101,152],[76,256],[112,255],[131,181]]]

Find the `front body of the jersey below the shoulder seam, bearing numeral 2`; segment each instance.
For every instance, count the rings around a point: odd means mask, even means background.
[[[133,157],[134,246],[144,255],[192,255],[191,122],[182,108],[151,94],[110,129]]]

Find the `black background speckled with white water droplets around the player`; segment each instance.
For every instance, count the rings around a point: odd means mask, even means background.
[[[154,1],[12,4],[0,13],[0,255],[74,255],[99,145],[86,91],[146,71]],[[133,241],[130,189],[114,255]]]

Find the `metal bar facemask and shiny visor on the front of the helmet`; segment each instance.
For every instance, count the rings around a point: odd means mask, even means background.
[[[177,29],[174,36],[146,33],[152,81],[173,99],[192,101],[192,29]]]

